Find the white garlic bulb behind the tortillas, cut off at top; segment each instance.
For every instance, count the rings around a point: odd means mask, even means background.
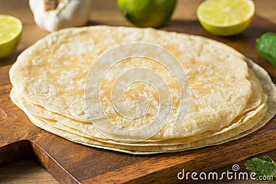
[[[53,32],[85,25],[90,17],[90,0],[29,0],[34,21]]]

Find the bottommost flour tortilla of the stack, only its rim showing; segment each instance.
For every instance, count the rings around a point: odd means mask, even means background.
[[[267,80],[269,81],[269,80]],[[275,85],[273,85],[273,83],[268,83],[266,81],[266,83],[264,83],[264,88],[265,91],[269,89],[268,92],[268,99],[270,99],[270,103],[268,103],[268,105],[275,105]],[[271,91],[272,90],[272,91]],[[13,100],[15,100],[14,102],[18,104],[18,102],[16,101],[17,98],[12,98]],[[271,99],[274,99],[274,101],[271,101]],[[20,107],[21,105],[19,105]],[[22,108],[22,107],[21,107]],[[136,145],[112,145],[109,143],[104,143],[101,141],[95,141],[93,139],[88,139],[86,137],[83,136],[79,136],[79,134],[72,134],[70,132],[66,132],[64,130],[60,130],[57,129],[55,127],[49,126],[48,123],[45,123],[45,121],[41,121],[39,119],[37,119],[36,117],[30,116],[30,114],[28,114],[28,116],[30,117],[30,119],[32,120],[32,122],[34,122],[36,125],[38,125],[39,127],[48,130],[49,132],[52,132],[54,134],[58,134],[59,136],[62,136],[66,139],[69,139],[70,141],[75,141],[77,143],[83,143],[85,145],[90,145],[93,147],[101,147],[104,149],[108,149],[108,150],[115,150],[115,151],[120,151],[120,152],[127,152],[127,153],[131,153],[131,154],[155,154],[155,153],[159,153],[159,152],[175,152],[175,151],[183,151],[183,150],[190,150],[190,149],[196,149],[199,147],[204,147],[206,145],[215,145],[215,144],[219,144],[219,143],[224,143],[227,141],[231,141],[234,139],[238,139],[242,136],[245,136],[246,134],[249,134],[252,131],[255,131],[255,128],[259,128],[262,127],[262,125],[264,125],[272,116],[273,114],[275,114],[275,109],[274,108],[268,108],[269,111],[266,111],[266,108],[264,108],[264,110],[262,110],[261,113],[258,114],[258,116],[254,116],[253,119],[250,119],[250,121],[248,121],[247,125],[253,126],[253,128],[251,128],[250,130],[247,130],[246,132],[244,131],[244,127],[245,126],[241,126],[239,128],[239,131],[242,131],[242,134],[239,134],[239,132],[237,132],[237,130],[231,130],[230,134],[229,132],[226,132],[225,134],[221,134],[220,136],[214,136],[208,139],[203,139],[201,141],[197,141],[195,143],[190,143],[190,144],[184,144],[184,145],[167,145],[167,146],[150,146],[150,147],[137,147]],[[262,114],[265,113],[264,118],[262,119]],[[260,121],[259,121],[260,120]],[[255,122],[259,122],[256,125]],[[233,136],[233,134],[236,134],[236,136]],[[226,139],[227,137],[231,137],[233,136],[231,139]],[[226,139],[226,140],[224,140]],[[219,140],[223,140],[221,142],[215,142],[215,141],[219,141]]]

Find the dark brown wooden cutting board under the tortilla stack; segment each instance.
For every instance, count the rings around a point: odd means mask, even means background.
[[[235,37],[212,36],[197,21],[171,21],[163,29],[227,43],[262,65],[276,82],[276,67],[255,50],[255,39],[276,32],[276,25],[261,17]],[[176,183],[182,169],[208,172],[276,149],[276,117],[242,139],[186,152],[136,156],[72,143],[34,126],[12,103],[9,68],[0,68],[0,165],[34,159],[62,183]]]

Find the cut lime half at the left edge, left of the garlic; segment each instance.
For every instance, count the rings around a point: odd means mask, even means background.
[[[10,15],[0,14],[0,59],[14,52],[19,44],[22,33],[22,23]]]

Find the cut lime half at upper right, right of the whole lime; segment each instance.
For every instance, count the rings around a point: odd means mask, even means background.
[[[255,14],[250,0],[206,0],[197,8],[197,18],[205,30],[231,36],[246,30]]]

